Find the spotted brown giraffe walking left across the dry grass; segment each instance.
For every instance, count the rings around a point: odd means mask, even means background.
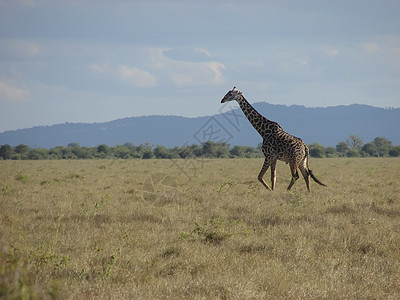
[[[276,163],[278,160],[284,161],[290,166],[292,179],[287,188],[288,190],[290,190],[296,180],[299,179],[297,169],[300,169],[300,172],[306,181],[308,191],[310,191],[309,176],[311,176],[316,183],[325,186],[325,184],[319,181],[309,169],[308,147],[300,138],[288,134],[278,123],[270,121],[258,113],[250,103],[247,102],[242,95],[242,92],[238,91],[236,87],[224,96],[221,103],[233,100],[238,102],[251,125],[253,125],[255,130],[257,130],[263,138],[262,151],[265,156],[265,161],[260,173],[258,174],[258,180],[268,190],[273,191],[275,188]],[[271,167],[271,187],[269,187],[263,178],[269,167]]]

